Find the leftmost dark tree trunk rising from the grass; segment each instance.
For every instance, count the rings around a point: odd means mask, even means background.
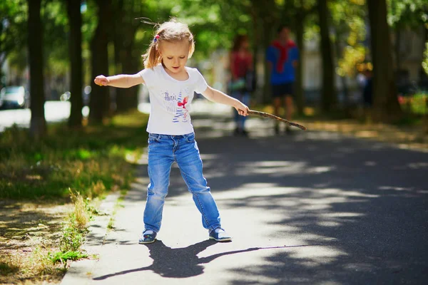
[[[44,61],[42,52],[43,35],[40,19],[41,0],[28,0],[27,3],[29,6],[30,133],[34,138],[38,139],[46,134],[46,120],[44,117]]]

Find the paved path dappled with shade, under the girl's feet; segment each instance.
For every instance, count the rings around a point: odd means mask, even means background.
[[[137,244],[147,172],[95,225],[62,284],[426,284],[428,154],[334,133],[228,136],[220,117],[193,118],[205,177],[233,242],[209,241],[176,167],[154,244]],[[225,135],[225,136],[222,136]],[[107,219],[104,220],[106,222]]]

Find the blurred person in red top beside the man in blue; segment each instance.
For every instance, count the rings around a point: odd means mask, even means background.
[[[248,36],[237,35],[230,51],[230,95],[245,105],[250,103],[252,83],[248,81],[252,81],[250,76],[253,72],[253,55],[248,50],[249,46]],[[235,112],[235,124],[234,135],[248,135],[245,130],[245,117],[240,116],[238,112]]]

